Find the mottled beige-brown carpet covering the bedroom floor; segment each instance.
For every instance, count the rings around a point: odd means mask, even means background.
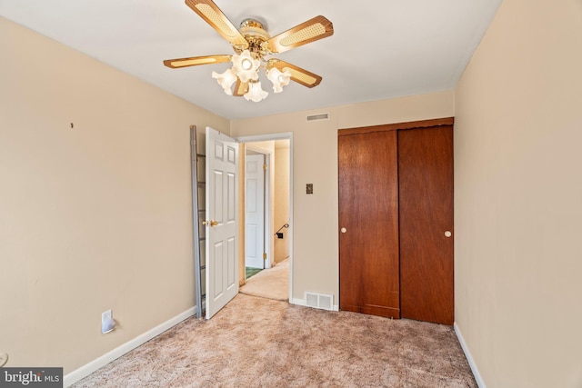
[[[450,326],[328,312],[238,294],[74,385],[477,387]]]

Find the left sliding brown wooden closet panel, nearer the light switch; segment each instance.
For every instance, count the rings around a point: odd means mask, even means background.
[[[396,131],[337,141],[340,308],[399,318]]]

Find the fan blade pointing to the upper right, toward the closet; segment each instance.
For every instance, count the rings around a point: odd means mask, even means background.
[[[334,35],[334,25],[320,15],[307,20],[305,23],[296,25],[284,33],[273,36],[266,41],[266,47],[271,53],[283,53],[330,35]]]

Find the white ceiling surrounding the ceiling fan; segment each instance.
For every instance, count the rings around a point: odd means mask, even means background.
[[[184,0],[0,0],[0,15],[236,119],[453,89],[501,1],[215,0],[234,25],[254,17],[271,35],[316,15],[334,24],[334,35],[277,55],[323,76],[322,83],[291,83],[259,103],[226,95],[211,78],[228,64],[162,65],[233,54]]]

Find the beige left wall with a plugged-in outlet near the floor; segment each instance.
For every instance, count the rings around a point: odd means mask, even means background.
[[[0,36],[0,352],[70,373],[194,306],[188,128],[229,124],[2,17]]]

